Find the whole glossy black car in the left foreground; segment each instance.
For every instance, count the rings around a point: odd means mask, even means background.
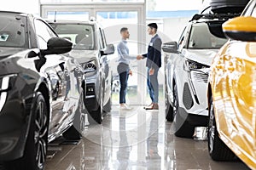
[[[49,142],[81,138],[85,77],[72,46],[39,17],[0,11],[0,168],[44,169]]]

